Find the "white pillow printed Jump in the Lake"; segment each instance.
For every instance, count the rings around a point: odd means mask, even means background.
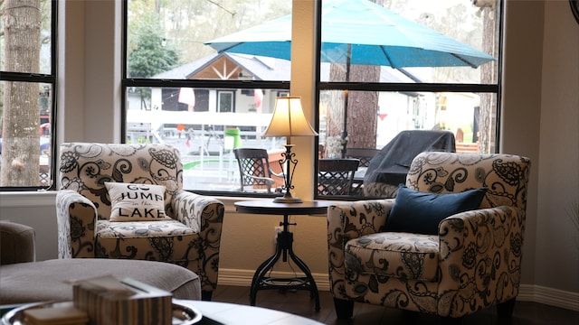
[[[165,214],[165,186],[105,182],[110,198],[110,221],[171,219]]]

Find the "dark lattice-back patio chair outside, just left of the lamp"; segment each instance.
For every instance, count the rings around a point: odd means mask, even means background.
[[[270,166],[270,156],[267,150],[259,148],[236,148],[233,150],[239,166],[240,190],[246,187],[253,189],[265,188],[271,193],[275,184],[273,176],[283,179],[283,174],[274,172]]]

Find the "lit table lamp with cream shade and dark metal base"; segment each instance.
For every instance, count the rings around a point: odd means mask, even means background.
[[[298,165],[298,160],[295,159],[296,153],[291,152],[293,144],[291,144],[292,136],[316,136],[318,133],[309,125],[306,116],[301,108],[300,97],[280,97],[275,100],[275,108],[273,116],[268,128],[265,130],[263,136],[285,136],[286,137],[286,152],[281,153],[283,159],[280,159],[280,167],[283,172],[284,185],[281,190],[285,191],[283,197],[275,198],[274,202],[279,203],[300,203],[301,199],[291,196],[291,190],[294,186],[291,184],[293,173]],[[285,169],[283,165],[286,165]]]

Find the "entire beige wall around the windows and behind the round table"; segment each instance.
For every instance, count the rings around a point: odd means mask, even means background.
[[[292,79],[297,82],[291,91],[304,97],[304,102],[313,100],[313,55],[308,55],[313,32],[304,27],[313,19],[308,14],[312,4],[298,1],[294,7],[299,13],[294,33],[307,37],[294,56]],[[508,0],[507,4],[500,151],[527,155],[533,163],[519,298],[579,310],[579,237],[566,217],[579,200],[579,24],[567,1]],[[62,5],[67,10],[60,34],[67,42],[61,46],[65,60],[58,118],[66,126],[58,138],[118,142],[119,4],[101,0]],[[308,180],[313,179],[307,157],[314,153],[314,144],[299,141],[298,194],[307,199],[312,196]],[[252,270],[272,252],[273,229],[280,218],[237,214],[232,200],[223,201],[227,209],[220,281],[248,283]],[[56,256],[53,193],[2,193],[0,218],[37,229],[39,259]],[[298,223],[292,229],[295,251],[323,286],[327,283],[326,218],[291,221]]]

